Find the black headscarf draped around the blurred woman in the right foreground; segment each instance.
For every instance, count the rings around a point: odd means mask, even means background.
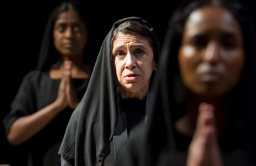
[[[230,94],[233,107],[228,112],[228,116],[230,122],[242,120],[245,126],[240,131],[230,133],[230,139],[226,141],[231,145],[229,150],[237,150],[237,146],[240,145],[238,147],[247,152],[245,156],[239,156],[240,153],[232,154],[237,158],[230,155],[232,158],[229,161],[234,162],[234,165],[246,165],[247,162],[255,162],[253,160],[255,160],[256,148],[256,139],[253,136],[256,131],[255,26],[251,16],[236,1],[219,0],[218,2],[238,20],[244,36],[245,67],[239,84]],[[127,146],[123,148],[115,166],[163,166],[166,163],[173,166],[185,165],[187,152],[179,151],[177,131],[174,129],[174,121],[185,113],[185,109],[181,108],[184,105],[182,102],[185,87],[182,85],[178,69],[178,49],[181,45],[183,28],[190,13],[210,3],[210,0],[185,0],[174,11],[163,43],[158,72],[153,82],[155,101],[152,113],[143,132],[130,139]],[[249,158],[250,161],[243,157]],[[181,160],[183,164],[180,163]]]

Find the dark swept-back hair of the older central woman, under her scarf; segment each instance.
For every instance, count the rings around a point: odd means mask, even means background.
[[[111,55],[112,55],[112,50],[113,50],[113,43],[116,38],[116,36],[119,33],[122,34],[131,34],[131,32],[134,32],[143,38],[147,39],[152,50],[154,53],[154,60],[157,63],[158,62],[158,56],[155,56],[155,47],[154,47],[154,42],[153,42],[153,36],[151,35],[150,31],[140,22],[136,22],[133,20],[127,20],[121,24],[118,25],[118,27],[114,30],[113,36],[111,39]]]

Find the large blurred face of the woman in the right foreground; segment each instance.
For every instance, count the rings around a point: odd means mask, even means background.
[[[225,95],[238,84],[245,63],[240,24],[225,8],[196,9],[185,23],[178,63],[192,92]]]

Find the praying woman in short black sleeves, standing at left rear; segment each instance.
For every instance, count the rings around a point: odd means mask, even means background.
[[[53,10],[38,67],[23,78],[3,121],[10,144],[29,149],[29,166],[60,165],[58,150],[65,129],[91,75],[88,38],[79,3],[66,1]]]

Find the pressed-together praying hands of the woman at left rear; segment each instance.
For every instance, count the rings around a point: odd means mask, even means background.
[[[56,104],[62,109],[66,107],[75,109],[80,102],[76,95],[76,90],[71,78],[71,63],[71,61],[65,61],[64,72],[60,81],[58,96],[55,100]]]

